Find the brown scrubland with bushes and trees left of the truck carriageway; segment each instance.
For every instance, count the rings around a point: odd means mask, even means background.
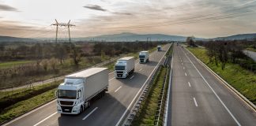
[[[149,50],[156,42],[2,43],[0,87],[18,87],[85,69],[111,57]]]

